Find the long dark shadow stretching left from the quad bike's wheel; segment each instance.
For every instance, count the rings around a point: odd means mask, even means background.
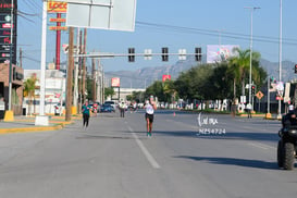
[[[237,165],[237,166],[245,166],[245,168],[279,170],[276,162],[267,162],[267,161],[261,161],[261,160],[220,158],[220,157],[193,157],[193,156],[177,156],[174,158],[190,159],[190,160],[195,160],[195,161],[203,161],[203,162],[213,163],[213,164],[225,164],[225,165]]]

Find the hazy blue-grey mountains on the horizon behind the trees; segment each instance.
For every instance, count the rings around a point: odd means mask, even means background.
[[[206,60],[202,60],[205,63]],[[187,71],[193,66],[197,66],[197,63],[193,57],[188,57],[185,61],[177,61],[173,65],[145,67],[136,71],[116,71],[106,72],[106,77],[121,78],[122,88],[145,88],[151,85],[154,81],[161,81],[162,75],[170,74],[173,79],[177,78],[181,72]],[[270,62],[268,60],[260,60],[261,66],[268,72],[270,76],[279,79],[279,63]],[[283,61],[282,64],[282,79],[288,82],[297,78],[297,74],[294,73],[294,65],[296,63],[292,61]]]

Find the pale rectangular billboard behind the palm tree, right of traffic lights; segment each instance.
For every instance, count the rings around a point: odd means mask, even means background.
[[[234,48],[239,48],[238,45],[208,45],[207,46],[207,63],[216,63],[234,57]]]

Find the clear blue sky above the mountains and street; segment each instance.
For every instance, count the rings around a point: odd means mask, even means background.
[[[219,45],[220,32],[222,45],[248,49],[251,14],[245,7],[261,8],[253,12],[253,50],[263,59],[277,62],[280,0],[138,0],[135,32],[88,29],[87,50],[126,53],[134,47],[137,53],[145,49],[158,53],[162,47],[169,47],[172,53],[178,49],[193,53],[195,47],[201,47],[206,52],[207,45]],[[27,13],[17,18],[17,45],[23,49],[24,69],[40,69],[41,9],[41,0],[18,0],[18,10]],[[296,0],[283,0],[283,60],[294,62],[297,62],[296,9]],[[147,23],[150,25],[145,25]],[[67,44],[67,33],[62,35],[62,44]],[[48,30],[48,62],[54,59],[54,50],[55,33]],[[63,52],[61,59],[66,60]],[[160,57],[151,61],[138,57],[134,63],[127,58],[114,58],[101,60],[101,64],[104,71],[122,71],[170,65],[176,61],[177,57],[170,57],[169,62],[162,62]]]

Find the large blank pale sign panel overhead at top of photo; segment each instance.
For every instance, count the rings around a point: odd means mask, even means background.
[[[71,0],[66,26],[134,32],[136,0]]]

